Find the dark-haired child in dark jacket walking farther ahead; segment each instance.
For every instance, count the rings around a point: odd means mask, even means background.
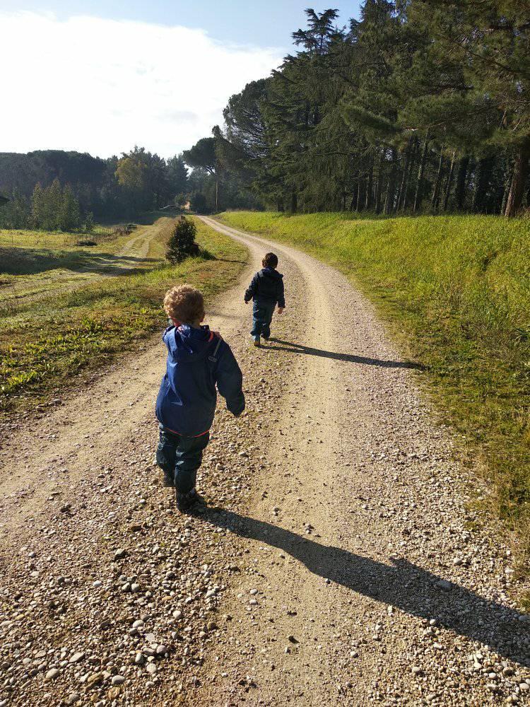
[[[261,337],[269,341],[271,336],[271,321],[274,308],[278,304],[278,314],[285,308],[285,298],[283,296],[283,275],[276,268],[278,267],[278,256],[274,253],[266,253],[261,261],[263,269],[257,272],[252,278],[249,288],[245,292],[245,304],[254,300],[252,332],[250,335],[254,339],[254,346],[259,346]]]

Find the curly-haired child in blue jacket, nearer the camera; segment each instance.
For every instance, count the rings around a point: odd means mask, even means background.
[[[216,385],[236,417],[245,409],[242,374],[230,346],[201,326],[204,299],[191,285],[167,291],[164,309],[173,322],[163,334],[167,370],[156,401],[160,442],[156,462],[164,486],[175,486],[182,513],[202,501],[196,492],[197,469],[210,439],[216,410]]]

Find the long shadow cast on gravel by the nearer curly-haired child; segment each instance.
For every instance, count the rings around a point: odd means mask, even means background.
[[[513,609],[447,583],[405,559],[386,565],[219,508],[209,508],[203,518],[216,527],[285,551],[315,575],[412,616],[436,619],[437,626],[489,645],[505,658],[530,667],[530,617],[520,618]]]

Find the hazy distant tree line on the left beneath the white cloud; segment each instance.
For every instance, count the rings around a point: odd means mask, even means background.
[[[188,199],[182,155],[135,147],[107,160],[76,152],[0,153],[1,228],[75,230]]]

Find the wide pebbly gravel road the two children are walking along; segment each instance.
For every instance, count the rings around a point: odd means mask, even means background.
[[[273,340],[242,286],[208,322],[245,374],[216,418],[208,510],[151,460],[160,344],[88,380],[0,448],[0,707],[524,703],[529,621],[510,558],[464,508],[449,431],[346,279],[245,241],[285,273]]]

